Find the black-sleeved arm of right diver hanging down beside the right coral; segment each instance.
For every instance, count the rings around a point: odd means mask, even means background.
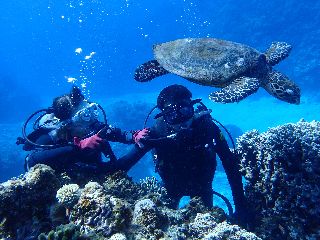
[[[239,161],[228,146],[220,129],[215,125],[215,143],[216,152],[219,155],[224,170],[227,174],[228,182],[232,190],[236,212],[242,211],[246,207],[246,199],[243,191],[242,177],[240,174]]]

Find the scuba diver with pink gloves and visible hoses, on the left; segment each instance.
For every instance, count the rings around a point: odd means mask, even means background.
[[[43,114],[34,122],[34,131],[27,135],[27,125],[39,113]],[[103,108],[87,101],[75,86],[70,94],[55,98],[51,108],[32,114],[22,132],[17,144],[32,151],[26,157],[26,171],[41,163],[58,172],[82,170],[92,174],[109,173],[109,164],[102,161],[101,153],[109,162],[116,161],[109,141],[133,144],[137,133],[108,125]]]

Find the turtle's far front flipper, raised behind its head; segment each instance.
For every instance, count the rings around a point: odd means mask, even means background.
[[[292,47],[286,42],[273,42],[266,51],[267,62],[274,66],[289,56]]]

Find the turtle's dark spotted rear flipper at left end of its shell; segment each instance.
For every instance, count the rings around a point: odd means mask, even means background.
[[[157,60],[151,60],[136,69],[134,79],[138,82],[147,82],[167,73],[169,72],[161,67]]]

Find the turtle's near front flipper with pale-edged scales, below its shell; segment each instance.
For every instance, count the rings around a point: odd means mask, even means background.
[[[260,81],[256,78],[241,77],[234,80],[220,91],[213,92],[209,99],[214,102],[233,103],[239,102],[255,93],[260,87]]]

